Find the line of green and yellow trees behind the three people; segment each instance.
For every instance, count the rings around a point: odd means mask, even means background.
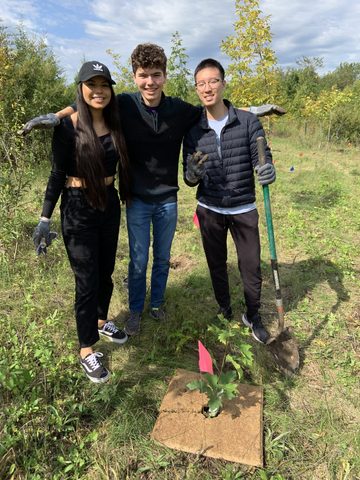
[[[315,131],[322,141],[358,143],[360,133],[360,63],[341,63],[321,75],[321,58],[303,57],[296,66],[280,68],[271,46],[270,17],[264,16],[259,0],[236,0],[234,33],[221,43],[229,57],[226,96],[235,105],[276,103],[288,114],[282,128]],[[133,91],[130,62],[108,50],[116,68],[117,91]],[[171,38],[168,81],[165,93],[198,103],[188,54],[181,34]],[[75,79],[70,84],[51,49],[23,29],[10,32],[0,27],[0,209],[2,227],[17,216],[17,206],[31,184],[34,164],[49,159],[51,132],[38,131],[23,139],[21,125],[34,115],[54,112],[75,98]],[[270,120],[267,120],[268,122]],[[272,119],[271,122],[274,122]],[[276,123],[276,120],[275,120]],[[300,127],[300,129],[299,129]],[[2,235],[0,252],[11,235]],[[15,232],[15,233],[14,233]],[[4,240],[5,239],[5,240]],[[6,240],[7,239],[7,240]]]

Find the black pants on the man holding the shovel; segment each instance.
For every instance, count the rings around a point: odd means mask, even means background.
[[[247,314],[250,317],[253,316],[260,308],[262,283],[257,210],[239,215],[222,215],[198,206],[196,213],[216,301],[222,308],[230,306],[226,263],[226,240],[227,232],[230,230],[243,281]]]

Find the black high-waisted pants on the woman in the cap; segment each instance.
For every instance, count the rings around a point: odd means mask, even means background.
[[[113,291],[111,275],[120,227],[120,201],[113,185],[107,188],[105,211],[92,208],[79,188],[65,188],[61,226],[75,275],[75,315],[80,347],[99,340],[98,319],[107,319]]]

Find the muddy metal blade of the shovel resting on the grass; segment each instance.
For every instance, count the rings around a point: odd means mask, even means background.
[[[289,328],[285,328],[277,337],[267,344],[279,368],[287,375],[296,373],[300,365],[299,348],[290,335]]]

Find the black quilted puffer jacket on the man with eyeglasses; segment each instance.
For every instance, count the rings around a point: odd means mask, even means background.
[[[215,131],[209,127],[204,110],[201,120],[184,139],[184,179],[188,155],[197,150],[207,153],[205,176],[199,183],[196,198],[209,206],[236,207],[255,201],[256,139],[265,134],[254,114],[235,109],[227,100],[224,103],[229,109],[229,119],[221,132],[222,158],[218,154]],[[272,162],[269,147],[266,147],[266,162]]]

